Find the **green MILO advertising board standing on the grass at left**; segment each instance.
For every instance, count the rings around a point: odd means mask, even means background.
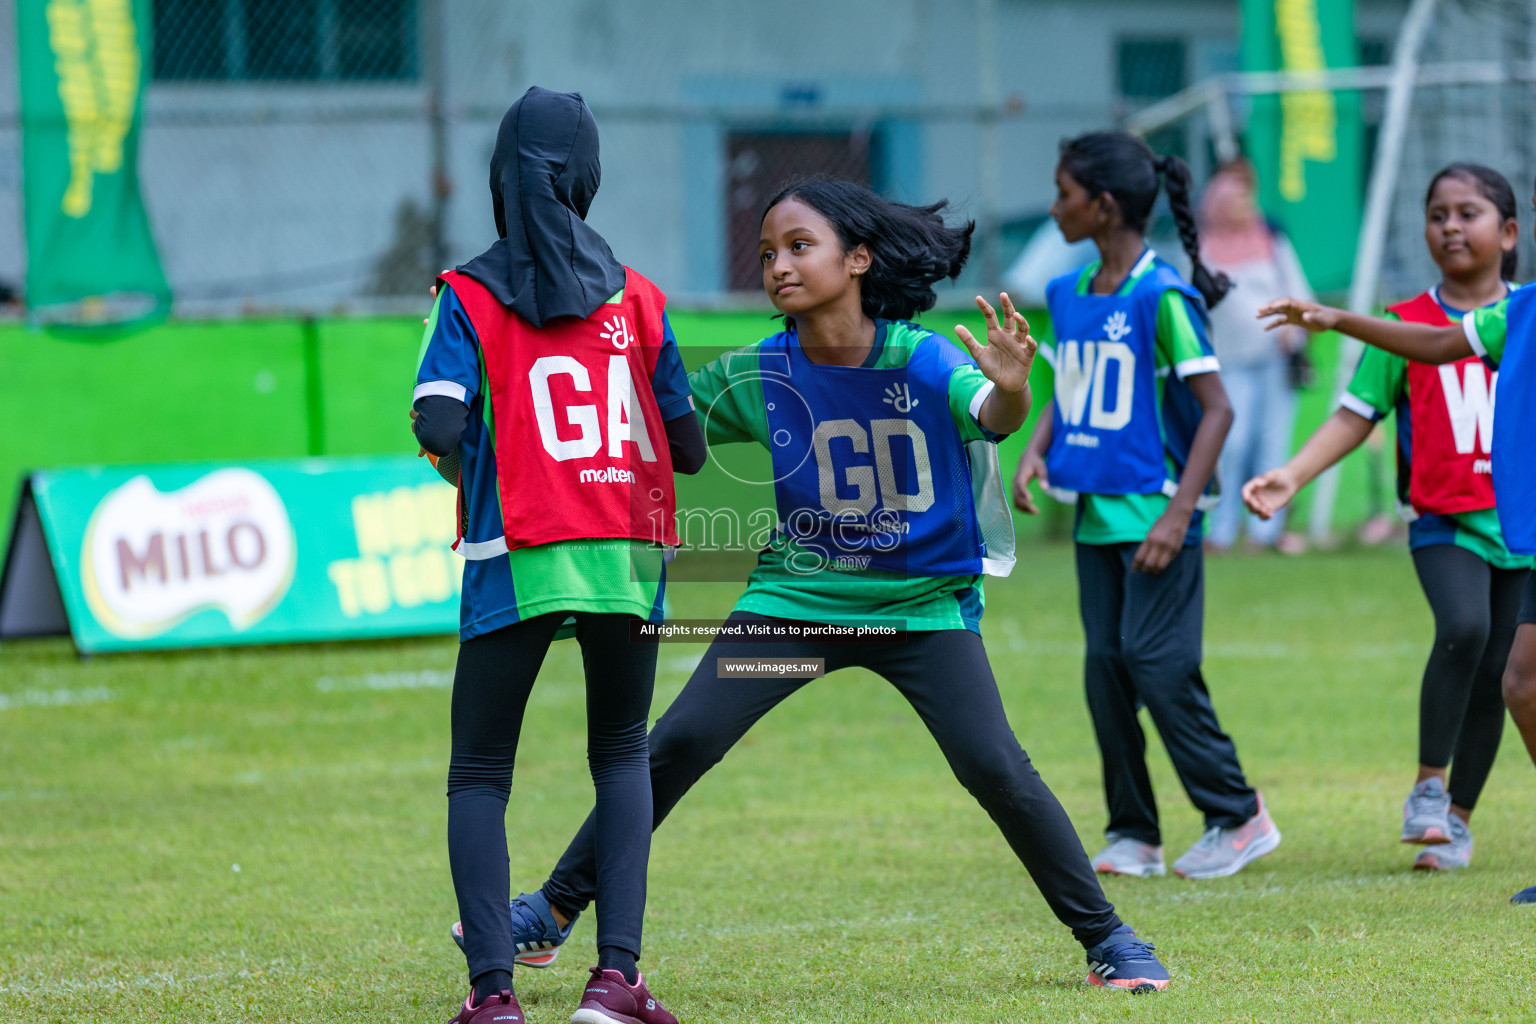
[[[455,633],[453,507],[410,456],[35,473],[0,637],[121,651]]]

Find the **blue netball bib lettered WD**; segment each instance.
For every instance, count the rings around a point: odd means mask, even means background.
[[[1164,292],[1197,302],[1200,293],[1161,261],[1124,295],[1078,295],[1078,276],[1072,272],[1046,286],[1057,338],[1055,422],[1046,451],[1051,490],[1169,493],[1163,418],[1172,415],[1180,427],[1172,433],[1184,439],[1193,433],[1186,421],[1198,422],[1198,405],[1183,388],[1170,388],[1180,393],[1160,413],[1157,313]],[[1181,461],[1187,450],[1172,454]]]

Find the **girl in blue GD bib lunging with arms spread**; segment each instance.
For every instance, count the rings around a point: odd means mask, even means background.
[[[1167,970],[1115,915],[1066,811],[1009,728],[982,643],[982,576],[1005,576],[1014,562],[994,445],[1029,411],[1035,342],[1006,295],[1001,322],[977,298],[986,345],[955,329],[974,362],[909,322],[934,304],[932,284],[958,275],[971,252],[974,224],[946,227],[943,207],[811,180],[763,212],[763,287],[788,329],[690,376],[711,445],[748,442],[773,453],[785,524],[727,625],[883,622],[903,628],[905,639],[716,639],[651,732],[656,823],[808,682],[725,677],[722,657],[822,659],[826,674],[866,668],[912,705],[1087,950],[1087,981],[1164,989]],[[868,568],[852,568],[859,563]],[[588,820],[542,890],[513,903],[516,921],[544,921],[519,930],[519,943],[564,943],[594,895],[601,907],[593,851]]]

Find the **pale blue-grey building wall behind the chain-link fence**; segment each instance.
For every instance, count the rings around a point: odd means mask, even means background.
[[[677,296],[725,281],[733,129],[868,129],[894,193],[988,212],[978,3],[441,2],[450,263],[495,238],[496,124],[533,83],[587,97],[604,154],[591,223]],[[1121,38],[1181,38],[1189,83],[1235,68],[1235,0],[989,2],[997,95],[1021,103],[995,135],[1000,218],[1043,212],[1058,141],[1124,114]],[[0,52],[14,52],[14,3],[0,0]],[[1362,2],[1359,18],[1390,34],[1402,8]],[[422,221],[402,220],[406,206],[432,204],[427,95],[424,77],[154,83],[141,177],[172,286],[184,298],[258,306],[376,290],[382,253],[421,243]],[[18,209],[14,111],[14,75],[0,75],[0,210]],[[0,215],[0,278],[20,273],[18,232],[17,218]]]

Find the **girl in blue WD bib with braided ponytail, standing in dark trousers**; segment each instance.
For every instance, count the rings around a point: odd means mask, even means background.
[[[1143,236],[1160,178],[1193,287]],[[1100,258],[1046,290],[1055,396],[1014,476],[1025,513],[1038,511],[1035,479],[1077,505],[1084,682],[1109,803],[1109,846],[1094,867],[1117,875],[1164,872],[1141,706],[1206,820],[1174,870],[1218,878],[1279,846],[1200,671],[1200,507],[1232,422],[1206,309],[1230,282],[1201,264],[1189,189],[1183,160],[1155,157],[1132,135],[1094,132],[1061,144],[1051,215],[1068,241],[1092,238]]]

